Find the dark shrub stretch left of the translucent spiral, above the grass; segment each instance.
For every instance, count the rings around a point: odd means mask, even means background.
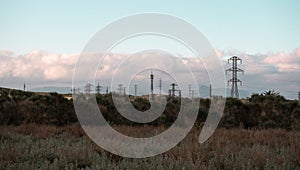
[[[65,125],[77,121],[73,103],[57,93],[40,95],[20,90],[0,91],[0,124]]]

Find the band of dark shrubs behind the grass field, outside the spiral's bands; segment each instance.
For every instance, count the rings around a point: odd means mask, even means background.
[[[72,100],[64,98],[63,95],[41,95],[10,89],[1,89],[0,94],[0,125],[67,125],[78,121]],[[101,113],[112,125],[143,126],[122,117],[115,108],[111,95],[97,95],[96,99]],[[148,100],[141,97],[132,97],[132,104],[140,111],[150,108]],[[209,99],[200,100],[197,126],[201,127],[205,121],[209,105]],[[179,108],[180,102],[177,98],[168,98],[164,113],[148,125],[170,126],[175,121]],[[227,98],[219,127],[300,130],[300,104],[296,100],[286,100],[272,90],[253,94],[244,101]]]

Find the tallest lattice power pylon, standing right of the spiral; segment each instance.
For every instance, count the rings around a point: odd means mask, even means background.
[[[232,77],[230,80],[228,80],[228,84],[231,82],[231,97],[239,97],[239,90],[237,83],[239,82],[242,85],[242,81],[237,78],[237,73],[242,72],[244,74],[244,70],[237,67],[237,62],[240,61],[240,64],[242,64],[242,59],[238,58],[237,56],[233,56],[230,59],[228,59],[228,63],[232,62],[232,67],[226,70],[227,72],[232,72]]]

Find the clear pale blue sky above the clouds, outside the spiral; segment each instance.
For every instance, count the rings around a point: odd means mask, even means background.
[[[159,12],[196,26],[221,50],[291,52],[300,46],[300,1],[0,1],[0,50],[78,53],[105,25]]]

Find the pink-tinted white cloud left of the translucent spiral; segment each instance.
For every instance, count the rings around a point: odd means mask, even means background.
[[[38,50],[16,56],[13,52],[0,51],[0,77],[28,81],[69,79],[77,56],[48,54]]]

